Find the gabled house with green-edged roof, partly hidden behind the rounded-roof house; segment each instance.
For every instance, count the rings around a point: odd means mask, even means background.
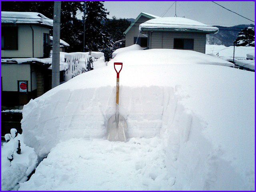
[[[148,46],[148,37],[145,34],[140,33],[139,25],[154,18],[158,18],[158,16],[143,12],[140,13],[139,16],[134,20],[134,22],[131,22],[131,25],[124,32],[125,46],[128,47],[133,44],[136,44],[137,41],[138,45],[140,45],[143,48],[146,48]]]

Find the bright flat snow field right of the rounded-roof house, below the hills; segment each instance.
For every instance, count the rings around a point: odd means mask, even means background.
[[[252,53],[255,51],[254,47],[244,47],[244,46],[235,46],[235,58],[236,59],[245,59],[246,54]],[[224,45],[207,45],[206,44],[206,54],[215,54],[220,57],[229,57],[233,58],[234,46],[226,47]]]

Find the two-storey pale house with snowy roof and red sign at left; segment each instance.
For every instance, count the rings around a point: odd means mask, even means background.
[[[51,89],[53,20],[36,12],[1,12],[1,24],[2,106],[22,106]]]

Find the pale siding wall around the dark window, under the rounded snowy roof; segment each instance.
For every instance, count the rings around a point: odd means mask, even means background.
[[[197,32],[149,32],[149,48],[173,49],[174,38],[194,39],[194,51],[205,53],[206,34]]]

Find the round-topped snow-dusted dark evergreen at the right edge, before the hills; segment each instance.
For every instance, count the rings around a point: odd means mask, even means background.
[[[242,29],[233,42],[236,46],[255,46],[255,30],[254,27],[246,27]]]

